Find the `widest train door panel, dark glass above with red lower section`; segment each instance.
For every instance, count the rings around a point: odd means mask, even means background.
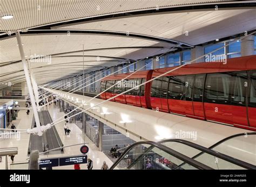
[[[233,124],[231,105],[232,76],[228,73],[207,74],[204,90],[205,118]]]

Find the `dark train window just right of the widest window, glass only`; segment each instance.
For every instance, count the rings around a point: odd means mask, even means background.
[[[246,88],[247,88],[247,73],[246,72],[234,72],[230,73],[233,76],[233,95],[231,96],[232,105],[244,105],[246,100]]]

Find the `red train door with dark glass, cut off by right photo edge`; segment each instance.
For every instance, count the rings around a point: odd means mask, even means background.
[[[250,127],[256,128],[256,71],[251,71],[250,91],[248,93],[248,119]]]

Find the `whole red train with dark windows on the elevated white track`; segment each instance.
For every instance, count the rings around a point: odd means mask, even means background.
[[[139,71],[126,81],[130,78],[150,80],[174,68]],[[103,81],[107,84],[127,75],[106,77]],[[102,91],[106,88],[103,83]],[[116,94],[116,88],[119,89],[114,87],[101,98],[110,98]],[[187,64],[146,84],[146,88],[126,93],[122,100],[119,96],[113,101],[256,131],[256,55],[226,62]]]

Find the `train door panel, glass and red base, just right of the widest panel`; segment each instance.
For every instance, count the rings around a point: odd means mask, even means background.
[[[246,92],[248,88],[248,78],[246,71],[236,71],[228,73],[232,76],[231,90],[231,113],[234,126],[248,126],[246,110]]]

